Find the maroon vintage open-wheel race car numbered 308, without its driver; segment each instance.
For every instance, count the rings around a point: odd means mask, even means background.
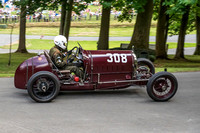
[[[177,79],[169,72],[155,74],[147,59],[137,59],[132,50],[84,50],[74,47],[68,62],[84,71],[83,78],[59,70],[47,51],[19,65],[15,72],[15,87],[27,89],[37,102],[50,102],[59,91],[121,89],[132,85],[147,86],[155,101],[171,99],[178,88]]]

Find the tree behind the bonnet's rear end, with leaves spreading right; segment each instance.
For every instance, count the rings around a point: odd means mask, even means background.
[[[152,0],[153,1],[153,0]],[[98,49],[109,48],[109,25],[110,25],[110,10],[115,8],[118,11],[122,11],[122,14],[118,16],[118,20],[123,22],[124,20],[131,22],[133,8],[138,12],[144,11],[143,7],[147,0],[106,0],[101,1],[102,5],[102,19],[101,28],[98,41]],[[152,5],[153,6],[153,5]],[[146,17],[146,16],[145,16]]]

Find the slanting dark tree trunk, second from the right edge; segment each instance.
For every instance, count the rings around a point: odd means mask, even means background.
[[[179,58],[184,59],[184,42],[185,42],[185,34],[187,30],[190,6],[186,6],[185,9],[186,11],[182,16],[181,27],[180,27],[179,36],[178,36],[178,46],[177,46],[176,55],[175,55],[175,58],[177,59]]]

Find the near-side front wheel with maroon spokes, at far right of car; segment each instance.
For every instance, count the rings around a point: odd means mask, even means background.
[[[171,99],[176,94],[177,89],[177,79],[169,72],[158,72],[147,83],[148,95],[159,102]]]

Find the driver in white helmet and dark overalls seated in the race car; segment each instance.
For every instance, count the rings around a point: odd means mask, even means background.
[[[54,38],[54,44],[55,46],[50,49],[49,55],[56,67],[60,70],[70,70],[71,73],[74,73],[76,76],[82,78],[83,72],[77,66],[67,63],[64,59],[71,53],[71,51],[67,51],[65,46],[65,44],[67,44],[66,37],[62,35],[56,36]]]

